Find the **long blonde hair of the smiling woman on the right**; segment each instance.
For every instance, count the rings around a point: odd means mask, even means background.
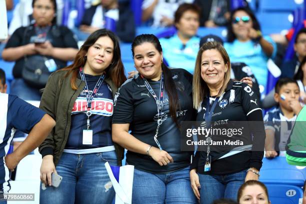
[[[193,72],[193,81],[192,81],[192,95],[193,95],[193,107],[198,109],[200,102],[203,100],[203,97],[209,92],[206,82],[201,78],[201,58],[202,53],[208,49],[216,49],[222,56],[224,64],[227,65],[227,71],[224,73],[224,80],[219,90],[217,97],[223,94],[225,91],[226,85],[230,80],[230,60],[229,56],[222,46],[221,43],[216,41],[205,42],[202,44],[200,49],[197,52],[195,68]]]

